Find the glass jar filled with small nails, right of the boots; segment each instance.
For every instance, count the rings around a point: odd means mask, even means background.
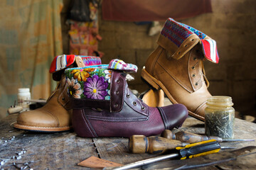
[[[212,96],[207,99],[205,109],[206,135],[233,139],[235,109],[229,96]]]

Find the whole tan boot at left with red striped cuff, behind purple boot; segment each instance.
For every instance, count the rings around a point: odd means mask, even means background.
[[[64,71],[68,67],[85,67],[101,64],[100,57],[85,57],[75,55],[61,55],[53,60],[50,73],[53,79],[60,81],[53,94],[50,95],[45,106],[33,111],[26,111],[18,115],[14,128],[21,130],[60,132],[72,127],[70,99],[67,94],[67,84]]]

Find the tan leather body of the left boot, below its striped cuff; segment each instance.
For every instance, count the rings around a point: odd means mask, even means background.
[[[18,115],[14,128],[43,132],[70,130],[72,110],[68,110],[69,98],[66,93],[65,76],[58,83],[45,106]]]

